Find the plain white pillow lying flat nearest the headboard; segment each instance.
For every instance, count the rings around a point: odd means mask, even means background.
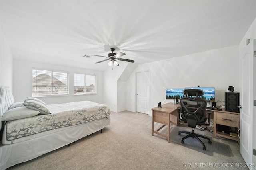
[[[2,116],[2,121],[23,119],[26,117],[38,115],[39,113],[39,111],[32,110],[27,107],[17,107],[6,111],[6,113],[4,113],[4,115]]]

